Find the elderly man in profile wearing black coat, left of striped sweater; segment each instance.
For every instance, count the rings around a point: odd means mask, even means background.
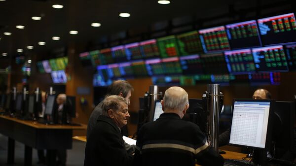
[[[120,133],[129,116],[124,98],[111,95],[102,101],[102,115],[87,139],[84,166],[131,165],[133,156],[127,153]]]

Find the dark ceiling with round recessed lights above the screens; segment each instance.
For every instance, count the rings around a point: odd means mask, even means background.
[[[288,11],[295,0],[171,0],[170,4],[158,4],[157,0],[5,0],[0,1],[0,60],[50,51],[69,43],[92,43],[96,45],[102,38],[133,30],[157,30],[157,25],[166,20],[181,21],[190,16],[189,22],[211,26],[239,18],[256,18],[276,12]],[[291,4],[293,3],[293,4]],[[55,9],[52,4],[62,4],[64,8]],[[267,6],[267,7],[266,7]],[[119,17],[120,12],[131,14],[129,18]],[[32,16],[41,16],[39,21]],[[220,17],[223,16],[223,17]],[[178,19],[179,18],[179,19]],[[209,20],[207,21],[207,19]],[[216,19],[213,19],[216,18]],[[188,20],[187,20],[188,21]],[[91,27],[99,22],[101,27]],[[25,29],[16,29],[23,25]],[[77,35],[69,34],[78,31]],[[147,31],[147,30],[146,30]],[[4,32],[12,33],[10,36]],[[60,36],[61,40],[52,40]],[[115,37],[116,38],[116,37]],[[38,45],[45,41],[46,45]],[[28,50],[27,45],[33,45]],[[24,49],[18,53],[17,49]],[[7,53],[7,57],[2,57]]]

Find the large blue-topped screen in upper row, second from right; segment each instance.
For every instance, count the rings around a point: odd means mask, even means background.
[[[256,20],[228,24],[225,27],[232,49],[262,46]]]

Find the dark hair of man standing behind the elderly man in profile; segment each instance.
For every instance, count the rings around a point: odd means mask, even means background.
[[[133,91],[134,88],[130,83],[124,80],[113,81],[112,84],[107,88],[107,95],[119,95],[122,93],[122,97],[125,98],[129,91]]]

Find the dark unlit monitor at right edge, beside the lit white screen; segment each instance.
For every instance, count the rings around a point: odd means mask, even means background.
[[[295,103],[276,101],[274,103],[273,136],[274,158],[282,159],[283,155],[294,148]],[[273,148],[272,148],[273,149]],[[284,157],[285,158],[285,157]],[[285,158],[288,160],[287,158]],[[291,159],[290,159],[291,160]]]

